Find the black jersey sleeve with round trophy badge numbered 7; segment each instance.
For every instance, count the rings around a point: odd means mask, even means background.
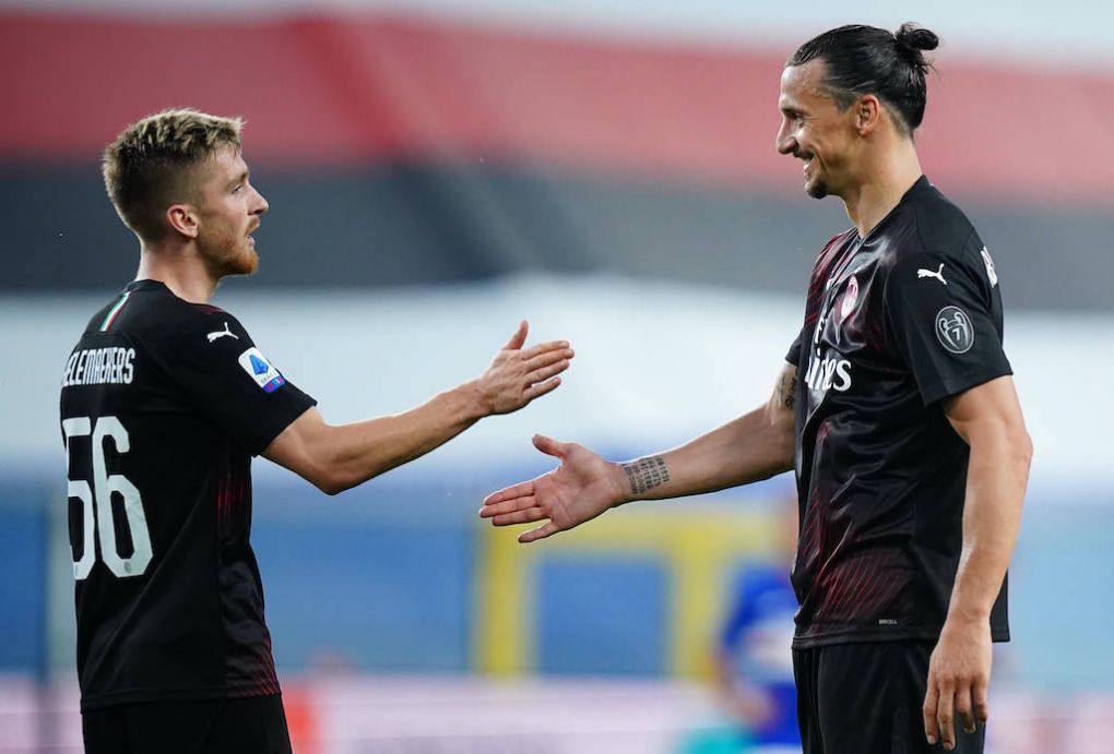
[[[1001,349],[997,280],[977,258],[969,249],[925,249],[902,255],[889,272],[887,331],[926,405],[1013,373]]]

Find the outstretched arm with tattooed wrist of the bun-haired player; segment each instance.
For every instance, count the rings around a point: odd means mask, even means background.
[[[793,466],[797,368],[785,364],[771,399],[739,419],[674,450],[613,463],[583,445],[535,437],[560,466],[495,492],[480,516],[496,526],[549,519],[518,539],[530,542],[632,500],[712,492],[766,479]]]

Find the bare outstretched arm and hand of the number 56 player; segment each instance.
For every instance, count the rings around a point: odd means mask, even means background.
[[[448,442],[481,418],[509,413],[560,384],[573,350],[564,341],[522,349],[524,322],[476,380],[404,413],[333,427],[310,409],[263,451],[335,494]]]

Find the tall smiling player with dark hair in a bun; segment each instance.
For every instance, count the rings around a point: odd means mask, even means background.
[[[817,257],[770,400],[624,463],[538,435],[560,466],[480,511],[496,526],[540,522],[519,536],[531,542],[633,500],[793,469],[805,754],[981,753],[991,643],[1009,639],[1006,571],[1033,445],[1003,350],[998,273],[913,141],[924,53],[938,43],[913,23],[846,26],[786,61],[776,149],[852,225]],[[971,138],[986,137],[993,128],[973,124]]]

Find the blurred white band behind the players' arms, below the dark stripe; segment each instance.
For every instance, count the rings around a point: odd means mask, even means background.
[[[496,452],[530,457],[535,432],[644,452],[683,442],[769,398],[803,316],[793,297],[629,277],[522,276],[367,294],[237,287],[214,303],[331,422],[402,411],[478,375],[519,319],[530,322],[529,342],[569,340],[577,355],[556,393],[482,421],[421,461],[455,466]],[[108,297],[0,297],[0,337],[20,354],[0,373],[0,458],[61,463],[61,370]],[[1034,486],[1114,490],[1114,402],[1077,402],[1092,379],[1114,374],[1114,350],[1102,347],[1112,332],[1108,314],[1007,313],[1006,353],[1036,444]]]

